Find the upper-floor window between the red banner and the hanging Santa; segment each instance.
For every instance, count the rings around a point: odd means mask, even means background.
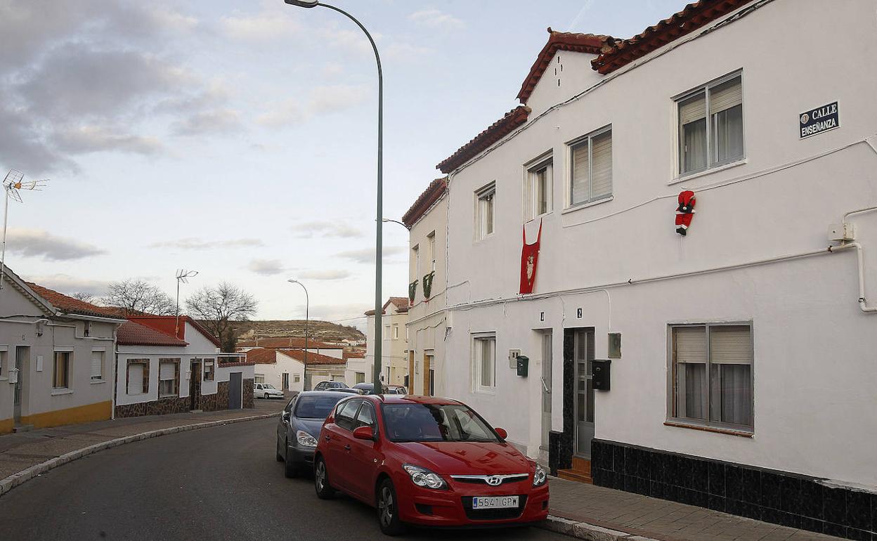
[[[569,206],[612,196],[612,127],[590,132],[569,144]]]

